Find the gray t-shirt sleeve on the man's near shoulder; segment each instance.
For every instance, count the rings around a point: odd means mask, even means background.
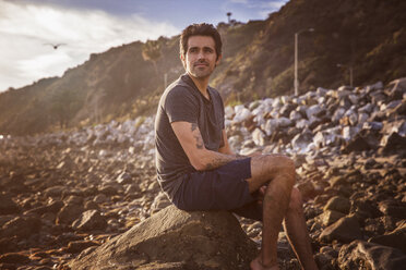
[[[175,87],[168,93],[164,109],[169,123],[177,121],[198,123],[199,101],[184,87]]]

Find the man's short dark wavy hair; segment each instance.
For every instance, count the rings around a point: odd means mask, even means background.
[[[180,36],[180,53],[186,56],[188,51],[188,40],[191,36],[210,36],[213,37],[215,42],[215,49],[217,53],[217,58],[222,54],[222,37],[217,29],[213,26],[213,24],[192,24],[184,28],[182,35]]]

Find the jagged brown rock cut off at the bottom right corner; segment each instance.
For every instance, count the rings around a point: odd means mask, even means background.
[[[406,255],[399,249],[363,241],[354,241],[339,249],[339,269],[399,270],[406,265]]]

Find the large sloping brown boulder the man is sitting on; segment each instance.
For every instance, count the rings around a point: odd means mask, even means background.
[[[248,269],[256,245],[225,211],[169,206],[104,245],[85,249],[72,269]]]

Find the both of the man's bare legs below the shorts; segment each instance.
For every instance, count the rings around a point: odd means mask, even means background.
[[[299,206],[301,204],[300,197],[298,198],[300,193],[292,189],[296,182],[294,162],[279,155],[254,157],[251,160],[251,174],[252,177],[248,180],[251,193],[267,184],[263,198],[262,250],[260,256],[251,262],[251,268],[278,269],[277,238],[285,218],[289,242],[300,262],[306,269],[317,269],[317,267],[313,268],[315,262],[301,205]],[[303,243],[300,243],[301,241]]]

